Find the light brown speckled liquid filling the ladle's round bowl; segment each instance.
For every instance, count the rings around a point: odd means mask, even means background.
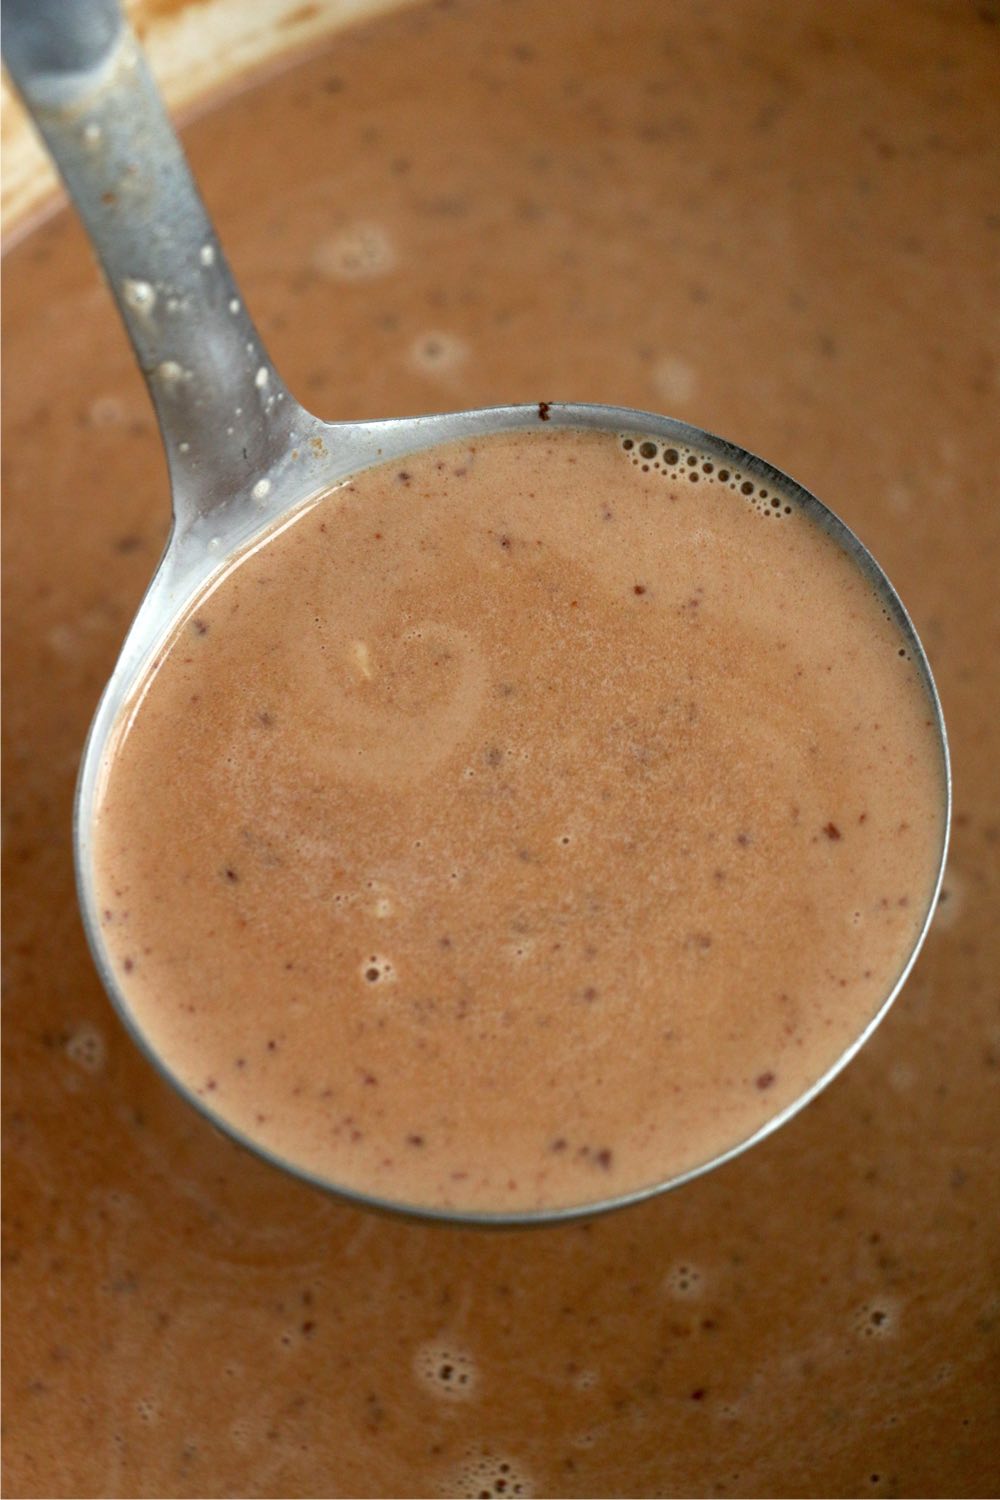
[[[544,430],[370,470],[123,716],[103,940],[168,1068],[337,1185],[597,1202],[820,1078],[942,843],[870,582],[700,454]]]

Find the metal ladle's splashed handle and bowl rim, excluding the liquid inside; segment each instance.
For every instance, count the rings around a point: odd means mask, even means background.
[[[622,406],[534,402],[445,416],[328,423],[307,412],[271,364],[232,279],[180,142],[138,42],[115,0],[4,0],[3,57],[84,220],[132,339],[159,420],[174,524],[150,588],[121,648],[87,740],[75,807],[75,854],[84,926],[103,984],[124,1024],[157,1068],[244,1146],[256,1142],[213,1114],[174,1077],[138,1028],[100,934],[91,828],[96,790],[118,716],[192,600],[235,554],[279,518],[346,476],[388,459],[495,432],[591,428],[636,441],[696,448],[795,500],[853,558],[900,630],[927,690],[940,740],[945,837],[931,900],[903,974],[877,1014],[834,1066],[750,1140],[670,1180],[603,1202],[540,1212],[429,1210],[348,1192],[280,1161],[286,1170],[358,1203],[424,1218],[522,1224],[648,1197],[718,1166],[802,1108],[840,1072],[883,1018],[924,942],[937,902],[951,820],[951,772],[940,704],[927,657],[900,597],[871,554],[837,516],[769,464],[699,428]]]

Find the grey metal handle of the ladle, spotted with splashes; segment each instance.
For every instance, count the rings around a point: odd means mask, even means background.
[[[1,36],[145,375],[175,519],[205,516],[259,483],[304,412],[243,306],[117,0],[4,0]]]

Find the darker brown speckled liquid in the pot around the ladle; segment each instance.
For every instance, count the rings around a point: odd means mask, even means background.
[[[52,220],[4,298],[9,1494],[462,1492],[469,1450],[472,1492],[996,1491],[997,12],[565,16],[400,16],[198,122],[247,298],[322,416],[625,402],[823,495],[934,662],[946,898],[826,1095],[607,1220],[379,1220],[217,1137],[114,1023],[75,909],[76,759],[166,486],[82,237]],[[315,246],[358,219],[399,261],[330,278]]]

